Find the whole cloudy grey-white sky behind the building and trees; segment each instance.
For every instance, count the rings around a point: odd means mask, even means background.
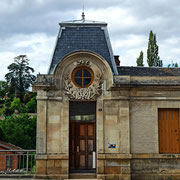
[[[180,0],[0,0],[0,80],[13,58],[26,54],[35,73],[47,73],[61,21],[104,21],[121,65],[135,66],[149,31],[164,66],[180,65]]]

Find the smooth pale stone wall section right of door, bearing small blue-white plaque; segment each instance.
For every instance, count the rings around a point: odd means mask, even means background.
[[[108,148],[108,143],[116,147]],[[128,101],[104,101],[104,146],[105,153],[130,153]]]

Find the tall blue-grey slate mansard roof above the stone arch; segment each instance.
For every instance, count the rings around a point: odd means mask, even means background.
[[[64,56],[76,51],[90,51],[99,54],[117,75],[106,23],[87,20],[60,23],[60,31],[48,74],[53,73],[57,63]]]

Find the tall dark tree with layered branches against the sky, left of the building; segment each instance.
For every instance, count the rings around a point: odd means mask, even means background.
[[[34,69],[29,66],[29,60],[26,55],[19,55],[14,58],[14,63],[8,66],[8,70],[9,73],[5,75],[5,79],[12,93],[22,99],[25,91],[36,79],[32,75]]]

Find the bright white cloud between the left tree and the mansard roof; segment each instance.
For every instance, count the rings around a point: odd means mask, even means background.
[[[0,47],[4,47],[4,51],[0,52],[0,79],[3,79],[8,72],[7,66],[13,62],[14,57],[20,54],[28,56],[31,67],[35,69],[35,74],[47,73],[55,39],[55,36],[47,36],[43,33],[17,35],[6,39],[0,44]]]

